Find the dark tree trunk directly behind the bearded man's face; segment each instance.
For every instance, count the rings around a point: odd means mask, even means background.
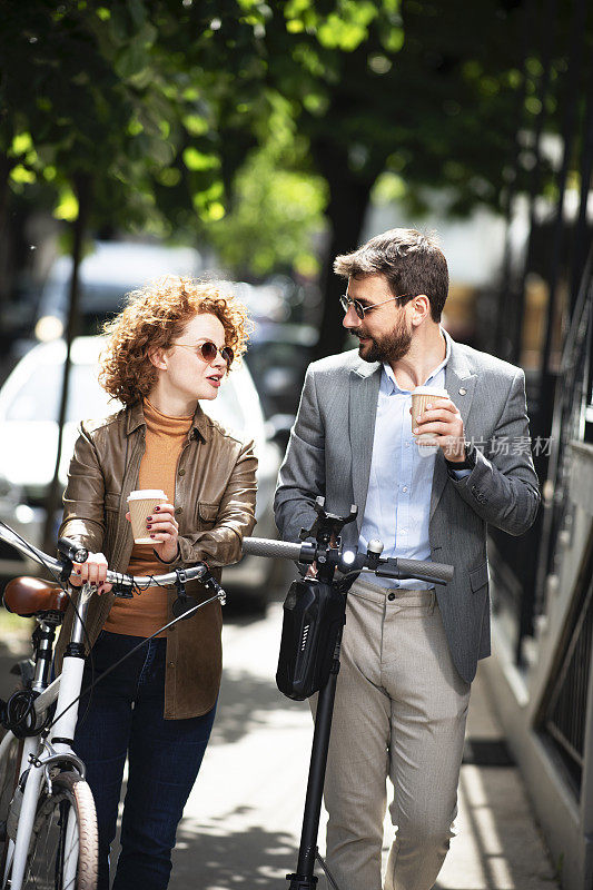
[[[327,149],[327,147],[326,147]],[[319,286],[323,294],[323,314],[319,339],[315,348],[316,358],[342,352],[346,332],[342,326],[344,313],[339,297],[346,293],[347,283],[334,274],[334,260],[338,254],[347,254],[358,247],[373,179],[356,179],[348,170],[344,152],[335,157],[330,151],[317,149],[316,159],[329,185],[327,217],[332,235],[322,270]]]

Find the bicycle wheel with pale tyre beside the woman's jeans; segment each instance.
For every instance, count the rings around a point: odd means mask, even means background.
[[[97,814],[92,793],[79,775],[62,772],[39,799],[24,887],[96,890]]]

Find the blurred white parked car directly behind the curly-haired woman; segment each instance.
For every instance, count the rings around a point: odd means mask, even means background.
[[[68,465],[80,419],[112,414],[119,404],[109,400],[97,380],[101,337],[78,337],[72,343],[70,397],[60,462],[66,485]],[[17,365],[0,390],[0,520],[33,544],[41,545],[47,487],[53,475],[58,447],[59,398],[66,359],[63,340],[34,346]],[[281,453],[266,437],[259,396],[244,364],[234,368],[214,402],[205,409],[225,426],[254,438],[259,458],[257,527],[260,537],[275,537],[273,497]],[[59,516],[56,517],[56,531]],[[38,571],[0,542],[0,575]],[[257,604],[264,604],[274,575],[274,563],[246,556],[225,570],[224,583]]]

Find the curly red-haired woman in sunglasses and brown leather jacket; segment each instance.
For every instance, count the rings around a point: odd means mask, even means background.
[[[162,574],[205,561],[236,562],[255,525],[256,458],[206,415],[234,354],[245,352],[245,308],[214,285],[168,277],[135,291],[106,328],[100,382],[125,407],[80,427],[60,535],[90,555],[72,582],[91,581],[87,630],[97,678],[172,617],[175,591],[115,599],[107,566]],[[154,545],[135,544],[126,498],[161,488],[147,518]],[[198,589],[199,591],[199,589]],[[188,585],[188,593],[190,591]],[[198,593],[199,595],[199,593]],[[205,599],[205,597],[202,597]],[[71,617],[70,617],[71,621]],[[61,640],[69,636],[68,620]],[[109,887],[126,756],[129,777],[116,890],[162,890],[184,805],[213,726],[221,671],[221,614],[211,603],[158,633],[81,701],[75,750],[87,765],[99,823],[99,890]],[[89,660],[90,661],[90,660]],[[88,663],[83,686],[91,681]],[[86,713],[87,712],[87,713]]]

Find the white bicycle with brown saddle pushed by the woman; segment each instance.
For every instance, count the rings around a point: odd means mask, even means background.
[[[37,626],[33,661],[20,663],[20,686],[1,708],[0,722],[7,732],[0,743],[0,888],[96,890],[97,817],[85,764],[72,750],[79,700],[95,684],[81,690],[85,620],[96,586],[69,584],[72,564],[86,562],[88,552],[60,538],[55,558],[4,524],[0,524],[0,540],[32,556],[58,582],[14,578],[4,590],[7,609],[33,617]],[[213,594],[209,599],[197,602],[187,595],[186,583],[196,580]],[[226,601],[205,563],[150,577],[109,571],[107,581],[116,595],[125,597],[148,586],[177,587],[175,617],[157,633],[208,603]],[[70,601],[76,601],[76,615],[62,672],[50,682],[56,630]]]

